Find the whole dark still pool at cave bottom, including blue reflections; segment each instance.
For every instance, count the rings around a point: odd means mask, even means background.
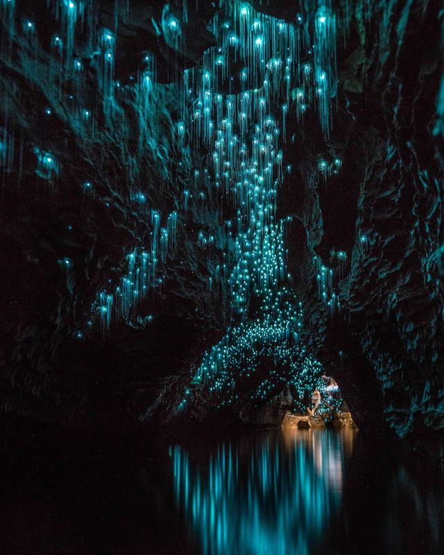
[[[361,432],[64,434],[0,465],[1,554],[444,555],[440,468]]]

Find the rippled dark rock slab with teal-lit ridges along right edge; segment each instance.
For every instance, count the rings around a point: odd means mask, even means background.
[[[358,182],[350,273],[341,283],[344,316],[401,437],[439,436],[444,426],[443,144],[434,103],[441,24],[438,6],[395,4],[379,28],[385,48],[368,52],[363,92],[350,101],[350,139],[364,138],[368,162]]]

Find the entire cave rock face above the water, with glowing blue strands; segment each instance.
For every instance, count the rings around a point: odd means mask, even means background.
[[[437,8],[272,4],[1,1],[5,411],[443,427]]]

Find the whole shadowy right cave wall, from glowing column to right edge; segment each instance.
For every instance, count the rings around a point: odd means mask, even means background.
[[[300,153],[303,161],[285,203],[298,206],[307,234],[305,254],[299,242],[295,247],[303,284],[313,283],[314,253],[326,266],[337,264],[339,250],[348,255],[336,279],[341,311],[322,319],[315,303],[311,314],[313,327],[323,321],[318,357],[357,420],[384,427],[383,414],[398,436],[439,443],[442,13],[429,2],[392,2],[381,3],[370,21],[363,14],[358,3],[349,42],[339,49],[339,110],[330,139],[323,144],[311,130],[296,129],[295,163]],[[340,155],[341,175],[307,179],[316,172],[316,152],[326,160]],[[313,293],[306,294],[310,306]]]

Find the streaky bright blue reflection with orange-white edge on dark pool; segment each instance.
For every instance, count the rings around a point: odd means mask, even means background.
[[[308,555],[341,504],[353,432],[286,430],[171,450],[178,506],[203,555]]]

